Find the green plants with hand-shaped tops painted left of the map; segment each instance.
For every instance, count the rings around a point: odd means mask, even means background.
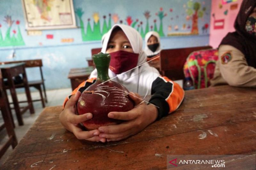
[[[2,33],[2,24],[0,23],[0,46],[25,45],[20,32],[20,21],[12,20],[12,16],[9,15],[6,15],[3,21],[3,25],[7,26],[7,30]]]

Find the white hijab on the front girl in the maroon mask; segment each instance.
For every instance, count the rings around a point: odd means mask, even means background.
[[[152,83],[160,74],[155,68],[150,67],[148,63],[146,63],[147,56],[142,49],[142,38],[137,30],[135,30],[131,26],[115,24],[108,31],[108,33],[104,35],[101,52],[106,53],[110,35],[113,29],[116,27],[120,27],[124,31],[126,37],[131,43],[133,52],[139,54],[137,66],[143,63],[145,64],[139,67],[135,67],[133,70],[128,71],[124,74],[121,73],[117,75],[110,69],[108,69],[108,75],[110,78],[114,78],[117,76],[112,80],[121,83],[130,92],[139,93],[142,97],[150,95]],[[96,69],[92,71],[90,78],[97,78]]]

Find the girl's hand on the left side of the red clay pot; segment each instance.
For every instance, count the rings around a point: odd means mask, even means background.
[[[73,132],[77,139],[85,139],[89,141],[106,142],[105,138],[100,138],[98,129],[91,131],[83,131],[79,128],[79,123],[92,118],[91,113],[84,115],[76,115],[76,102],[80,97],[80,92],[76,92],[66,103],[63,111],[60,113],[60,122],[68,131]]]

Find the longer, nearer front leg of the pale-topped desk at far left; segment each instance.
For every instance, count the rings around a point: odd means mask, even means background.
[[[14,109],[15,109],[15,113],[19,122],[19,125],[23,125],[23,119],[22,119],[22,115],[20,113],[20,106],[19,106],[19,101],[17,98],[17,94],[16,94],[16,90],[15,90],[15,85],[14,82],[12,80],[12,75],[10,70],[7,70],[7,76],[8,76],[8,85],[10,87],[10,91],[11,91],[11,95],[12,95],[12,101],[13,101],[13,105],[14,105]]]

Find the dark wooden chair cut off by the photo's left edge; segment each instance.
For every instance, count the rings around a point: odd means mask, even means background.
[[[8,104],[8,98],[4,91],[1,70],[0,70],[0,108],[1,108],[3,119],[4,119],[4,124],[0,126],[0,130],[3,130],[4,128],[6,128],[7,134],[9,136],[8,141],[5,142],[5,144],[0,148],[0,158],[1,158],[10,145],[12,145],[12,148],[14,149],[15,146],[18,144],[16,135],[14,132],[13,120],[12,120],[11,110]]]

